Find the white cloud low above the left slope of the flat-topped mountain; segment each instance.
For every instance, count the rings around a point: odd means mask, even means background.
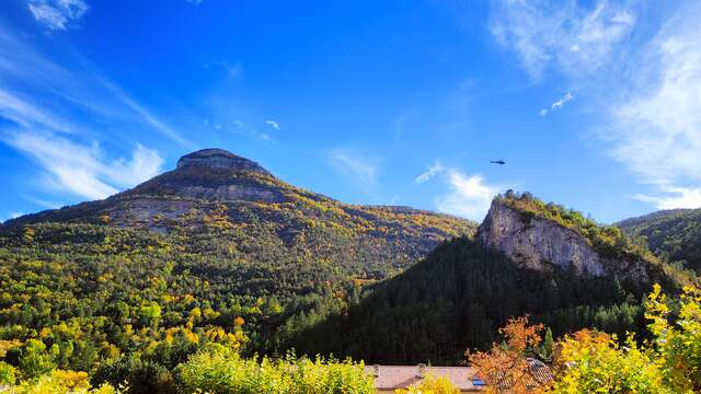
[[[42,166],[45,187],[90,199],[105,198],[120,187],[153,177],[163,164],[158,152],[140,144],[130,160],[108,161],[96,144],[84,146],[53,135],[19,132],[5,142]]]

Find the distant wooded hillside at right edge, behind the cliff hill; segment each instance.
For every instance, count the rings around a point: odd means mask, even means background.
[[[701,209],[663,210],[618,225],[631,236],[643,237],[655,254],[701,273]]]

